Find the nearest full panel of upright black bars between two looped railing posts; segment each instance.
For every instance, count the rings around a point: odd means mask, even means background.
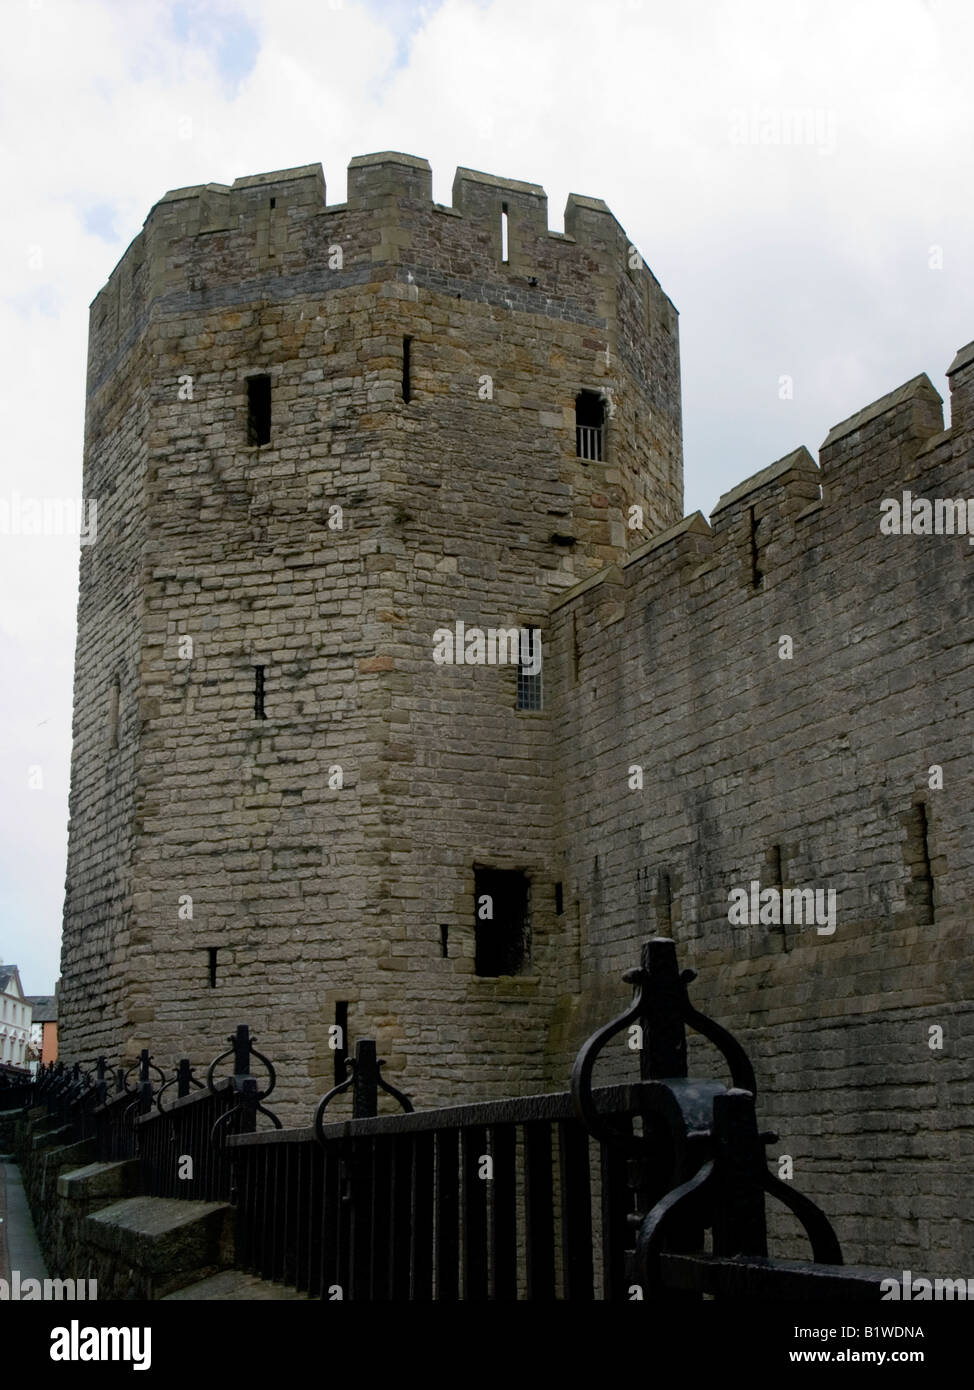
[[[641,1090],[602,1088],[593,1105],[625,1123]],[[247,1134],[229,1150],[239,1258],[265,1279],[322,1298],[622,1294],[625,1159],[592,1144],[568,1093]]]

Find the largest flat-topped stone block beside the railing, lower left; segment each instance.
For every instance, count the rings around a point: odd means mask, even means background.
[[[164,1298],[233,1264],[233,1208],[126,1197],[85,1220],[99,1298]]]

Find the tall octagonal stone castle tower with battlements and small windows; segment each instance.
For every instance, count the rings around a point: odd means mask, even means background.
[[[434,634],[545,651],[682,516],[677,314],[606,204],[552,232],[461,168],[446,207],[396,153],[340,204],[320,165],[167,193],[92,306],[85,495],[65,1055],[246,1019],[307,1105],[347,1019],[424,1105],[550,1084],[557,670]]]

